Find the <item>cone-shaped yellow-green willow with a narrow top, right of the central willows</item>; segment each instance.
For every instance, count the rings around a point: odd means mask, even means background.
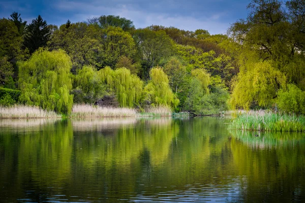
[[[143,90],[143,102],[151,106],[169,106],[176,108],[179,99],[173,94],[167,75],[157,66],[149,72],[150,80]]]

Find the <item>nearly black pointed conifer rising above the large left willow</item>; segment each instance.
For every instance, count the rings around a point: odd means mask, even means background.
[[[50,39],[50,28],[47,21],[39,15],[32,23],[26,27],[23,45],[28,48],[29,53],[33,53],[39,47],[44,47]]]

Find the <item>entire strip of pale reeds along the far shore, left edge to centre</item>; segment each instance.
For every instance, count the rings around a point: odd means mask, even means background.
[[[124,118],[124,117],[189,117],[190,113],[173,113],[169,107],[150,107],[143,112],[132,108],[100,107],[95,105],[73,105],[69,115],[57,114],[54,111],[46,111],[40,107],[14,105],[10,107],[0,106],[0,119],[6,118]]]

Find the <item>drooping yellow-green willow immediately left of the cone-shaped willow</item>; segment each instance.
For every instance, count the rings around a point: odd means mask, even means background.
[[[115,94],[121,107],[134,107],[139,105],[142,95],[143,82],[130,70],[121,67],[113,71],[105,67],[98,71],[100,80],[107,85],[108,92]]]

